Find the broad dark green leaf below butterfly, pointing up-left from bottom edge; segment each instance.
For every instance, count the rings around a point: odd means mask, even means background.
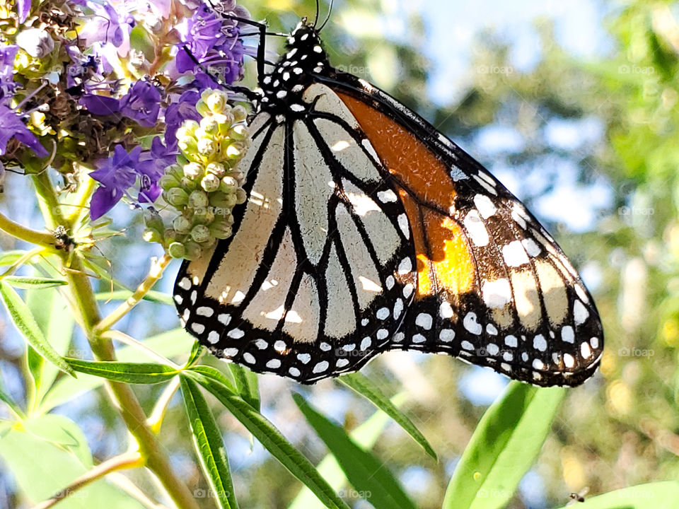
[[[341,426],[313,409],[300,394],[293,394],[292,397],[362,498],[376,509],[415,509],[414,503],[384,462],[359,447]]]

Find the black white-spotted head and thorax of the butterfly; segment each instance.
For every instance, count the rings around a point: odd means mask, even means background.
[[[314,74],[330,69],[318,32],[306,19],[297,25],[285,49],[273,71],[260,80],[259,109],[275,115],[279,123],[284,117],[304,115],[308,109],[302,100],[304,90],[311,85]]]

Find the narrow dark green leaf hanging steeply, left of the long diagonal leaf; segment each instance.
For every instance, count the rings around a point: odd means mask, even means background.
[[[220,509],[238,508],[224,440],[221,438],[214,416],[195,382],[185,375],[180,375],[179,380],[193,434],[193,444],[203,472],[216,495],[217,505]]]

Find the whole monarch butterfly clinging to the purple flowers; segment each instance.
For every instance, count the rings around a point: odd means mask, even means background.
[[[422,117],[334,69],[319,30],[303,18],[271,72],[259,61],[248,202],[231,238],[182,264],[188,332],[303,383],[395,349],[584,382],[603,331],[555,240]]]

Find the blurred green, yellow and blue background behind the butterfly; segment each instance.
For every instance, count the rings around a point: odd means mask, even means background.
[[[266,18],[272,30],[290,30],[301,16],[315,15],[313,0],[242,4],[253,18]],[[598,494],[676,479],[679,4],[595,1],[559,6],[537,0],[512,4],[503,26],[511,27],[516,16],[516,26],[531,31],[528,65],[516,63],[517,41],[525,41],[518,29],[497,29],[492,23],[463,25],[455,16],[456,9],[493,9],[499,8],[498,2],[441,4],[337,0],[323,36],[335,66],[366,78],[420,112],[525,200],[556,234],[596,298],[606,340],[600,372],[569,391],[538,462],[508,507],[560,507],[571,492]],[[534,4],[542,8],[535,9]],[[588,9],[578,11],[583,5]],[[322,4],[321,18],[326,12],[327,4]],[[564,45],[559,23],[565,16],[571,20],[571,40],[583,37],[600,47],[582,52]],[[592,19],[603,34],[601,40],[586,33]],[[436,40],[432,27],[438,26],[441,33],[442,24],[449,37]],[[460,43],[460,33],[468,35],[463,45],[466,59],[455,67],[458,75],[446,81],[439,68],[448,53],[459,57],[453,46]],[[283,42],[281,37],[269,37],[268,49],[276,52]],[[247,80],[251,84],[256,80],[252,62]],[[32,205],[17,197],[5,194],[1,199],[3,206],[24,216],[32,213]],[[134,286],[147,268],[142,263],[149,247],[141,245],[139,223],[125,225],[130,216],[124,210],[113,215],[117,228],[127,226],[126,236],[103,242],[98,249],[103,257],[118,260],[110,270]],[[3,249],[14,247],[7,238],[0,242]],[[172,269],[167,272],[164,289],[170,288],[173,274]],[[129,320],[136,321],[125,325],[138,339],[177,324],[171,310],[160,312],[151,303],[133,315]],[[22,343],[14,341],[13,334],[11,324],[0,316],[2,376],[8,390],[21,399]],[[79,341],[86,349],[81,338],[74,348]],[[364,372],[388,394],[405,393],[405,407],[439,462],[393,423],[377,440],[376,455],[399,477],[419,508],[440,507],[455,462],[506,380],[446,356],[412,353],[385,354]],[[265,375],[260,387],[265,416],[314,462],[323,458],[325,446],[303,420],[291,389],[303,392],[349,430],[373,412],[364,399],[332,381],[298,387]],[[135,387],[147,411],[160,390]],[[172,445],[168,448],[180,475],[202,493],[207,486],[185,433],[181,402],[175,399],[163,423],[162,440]],[[241,507],[288,507],[301,485],[260,445],[253,445],[233,416],[210,401],[224,430]],[[115,409],[98,392],[88,392],[56,411],[79,424],[96,458],[120,452],[125,443]],[[148,478],[134,481],[152,483]],[[0,476],[0,505],[19,505],[15,483],[11,475]],[[355,495],[344,492],[350,505],[369,507]],[[213,507],[209,499],[199,504]]]

